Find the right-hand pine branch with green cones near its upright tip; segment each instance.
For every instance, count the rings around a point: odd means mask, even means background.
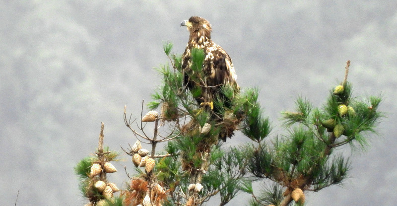
[[[348,177],[349,158],[336,153],[335,148],[344,144],[364,148],[383,117],[377,111],[380,96],[369,97],[366,102],[352,98],[349,66],[350,61],[344,81],[330,90],[322,108],[313,108],[299,97],[295,111],[282,113],[287,135],[275,138],[271,145],[258,140],[247,147],[251,178],[273,182],[259,197],[254,195],[251,182],[245,182],[242,190],[253,195],[251,206],[287,206],[292,201],[303,205],[306,191],[318,192]],[[253,134],[247,131],[245,135]]]

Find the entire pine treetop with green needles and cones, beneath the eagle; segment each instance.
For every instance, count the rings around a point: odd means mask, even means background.
[[[169,63],[157,69],[162,85],[147,104],[150,111],[143,115],[142,102],[141,120],[135,124],[124,108],[125,124],[137,140],[123,150],[132,156],[136,174],[120,197],[105,195],[97,183],[110,185],[105,170],[96,175],[89,171],[95,163],[103,168],[118,155],[103,150],[103,128],[96,156],[84,158],[75,167],[82,194],[92,206],[200,206],[215,195],[223,206],[239,191],[252,195],[247,203],[251,206],[303,205],[308,191],[341,184],[347,177],[349,159],[334,148],[366,146],[383,117],[377,110],[380,96],[366,102],[352,97],[347,62],[344,81],[330,91],[322,108],[313,108],[299,97],[296,111],[282,113],[286,134],[268,137],[272,127],[258,102],[258,89],[235,94],[233,88],[222,86],[213,105],[199,105],[195,97],[201,91],[184,86],[181,57],[171,50],[171,43],[164,44]],[[205,81],[200,73],[203,58],[202,50],[192,51],[193,69],[198,80]],[[235,130],[251,142],[224,148],[219,133]],[[166,144],[159,150],[161,142]],[[257,195],[254,181],[264,182],[267,189]]]

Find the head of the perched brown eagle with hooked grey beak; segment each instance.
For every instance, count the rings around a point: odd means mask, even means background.
[[[191,35],[199,33],[199,35],[211,38],[211,24],[199,16],[192,16],[189,20],[182,21],[181,26],[186,26]]]

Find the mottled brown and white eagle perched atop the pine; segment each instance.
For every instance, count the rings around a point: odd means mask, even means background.
[[[182,21],[181,26],[186,26],[190,33],[188,45],[182,55],[184,85],[192,93],[199,91],[199,94],[197,92],[194,94],[196,101],[201,106],[209,106],[214,113],[217,113],[218,120],[219,117],[221,120],[221,114],[218,113],[219,111],[216,108],[213,108],[213,101],[219,100],[217,98],[224,98],[221,93],[222,86],[230,86],[234,94],[240,91],[240,87],[236,82],[237,75],[232,59],[222,47],[211,40],[211,24],[206,19],[192,16],[189,20]],[[192,50],[195,48],[202,49],[204,52],[201,74],[195,73],[194,69],[192,69]],[[226,137],[231,137],[232,135],[233,129],[229,129],[220,134],[219,137],[226,140]]]

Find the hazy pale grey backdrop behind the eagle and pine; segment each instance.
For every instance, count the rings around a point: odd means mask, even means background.
[[[212,24],[240,86],[261,89],[273,137],[283,134],[281,111],[299,95],[323,105],[351,60],[354,95],[382,93],[388,118],[382,137],[353,152],[343,187],[308,193],[307,205],[394,205],[397,2],[274,2],[0,1],[0,205],[13,205],[18,190],[18,206],[84,205],[73,167],[97,147],[101,122],[111,149],[135,141],[124,105],[140,115],[159,84],[153,68],[167,62],[163,42],[181,54],[188,32],[179,24],[192,15]],[[237,135],[226,146],[243,141]],[[124,158],[109,177],[119,186],[128,180],[124,165],[133,172]],[[241,193],[229,205],[248,198]]]

